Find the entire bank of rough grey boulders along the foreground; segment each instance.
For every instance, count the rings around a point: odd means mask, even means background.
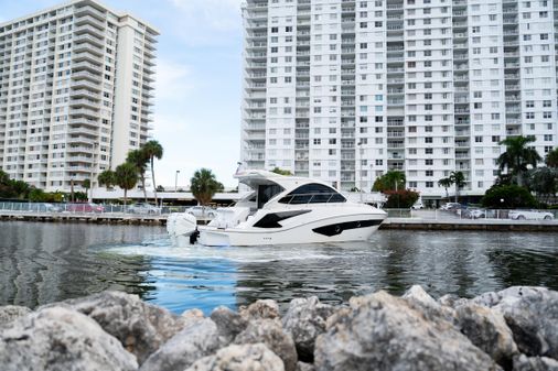
[[[377,292],[331,306],[273,301],[181,316],[118,292],[0,307],[2,371],[558,371],[558,292],[472,299]]]

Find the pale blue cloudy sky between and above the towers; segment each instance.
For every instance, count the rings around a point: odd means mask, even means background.
[[[0,22],[56,6],[57,0],[0,0]],[[242,0],[103,0],[161,32],[153,139],[164,148],[158,184],[190,183],[208,167],[225,186],[240,152]]]

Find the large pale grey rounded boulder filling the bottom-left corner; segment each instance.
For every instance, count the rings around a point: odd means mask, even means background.
[[[64,307],[44,308],[0,332],[2,371],[137,370],[136,357],[92,318]]]

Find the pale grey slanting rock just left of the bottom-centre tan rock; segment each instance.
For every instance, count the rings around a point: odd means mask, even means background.
[[[195,320],[151,354],[140,371],[184,370],[219,347],[217,326],[210,318]]]

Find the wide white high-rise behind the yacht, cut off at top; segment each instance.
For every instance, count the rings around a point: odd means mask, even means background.
[[[242,160],[423,198],[494,182],[498,142],[558,143],[558,1],[247,0]],[[558,29],[557,29],[558,30]]]

